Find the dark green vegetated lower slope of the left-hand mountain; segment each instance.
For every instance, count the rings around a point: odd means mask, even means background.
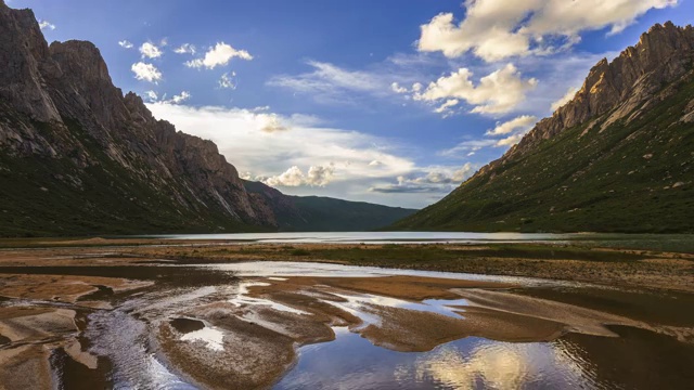
[[[4,112],[5,117],[8,113]],[[95,164],[77,158],[10,156],[0,153],[0,236],[76,236],[99,234],[209,233],[257,231],[219,213],[175,205],[142,179],[114,161],[79,123],[64,119],[75,144]],[[18,125],[21,126],[21,125]],[[50,125],[34,126],[51,142]],[[193,202],[193,199],[187,199]],[[108,205],[107,208],[103,205]]]

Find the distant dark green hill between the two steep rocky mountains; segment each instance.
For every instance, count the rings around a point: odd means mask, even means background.
[[[387,226],[416,210],[323,196],[288,196],[260,182],[246,181],[252,197],[271,206],[282,231],[356,232]]]

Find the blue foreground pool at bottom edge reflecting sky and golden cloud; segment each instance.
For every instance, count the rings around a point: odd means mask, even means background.
[[[375,347],[336,328],[334,342],[299,350],[274,389],[565,389],[600,388],[584,367],[550,342],[509,343],[470,337],[430,352]]]

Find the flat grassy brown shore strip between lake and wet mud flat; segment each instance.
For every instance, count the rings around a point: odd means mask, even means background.
[[[323,262],[401,270],[520,276],[694,292],[694,253],[553,244],[254,243],[218,239],[0,240],[0,273],[17,266]],[[30,247],[27,247],[29,244]]]

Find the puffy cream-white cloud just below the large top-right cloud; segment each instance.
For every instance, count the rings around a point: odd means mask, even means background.
[[[460,68],[450,76],[430,82],[426,90],[416,92],[413,98],[428,102],[447,100],[447,103],[451,102],[451,99],[462,99],[474,105],[473,113],[503,114],[513,110],[523,102],[526,92],[534,89],[538,82],[535,78],[522,79],[520,73],[513,64],[480,78],[477,86],[470,79],[472,76],[470,69]],[[450,108],[450,104],[445,108]]]

